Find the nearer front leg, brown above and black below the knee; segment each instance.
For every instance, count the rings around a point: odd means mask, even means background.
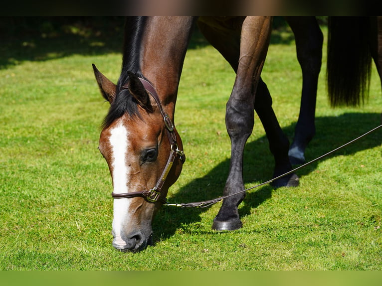
[[[264,65],[271,31],[271,18],[246,17],[241,29],[240,57],[235,84],[226,105],[225,124],[231,140],[231,160],[224,195],[244,189],[243,151],[254,123],[254,92]],[[242,227],[238,205],[245,194],[223,200],[212,229],[236,230]]]

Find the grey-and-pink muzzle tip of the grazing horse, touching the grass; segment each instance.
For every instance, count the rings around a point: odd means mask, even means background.
[[[121,252],[140,252],[153,243],[153,233],[145,236],[141,231],[131,233],[127,238],[114,238],[113,247]]]

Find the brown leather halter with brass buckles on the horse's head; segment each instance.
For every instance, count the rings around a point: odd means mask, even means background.
[[[186,161],[186,155],[183,150],[180,150],[178,148],[177,143],[177,136],[174,132],[174,124],[171,121],[171,118],[169,115],[164,111],[163,106],[161,104],[161,101],[159,100],[158,94],[155,91],[154,86],[148,82],[147,80],[143,78],[139,78],[139,80],[142,82],[145,89],[151,94],[151,96],[156,101],[159,111],[162,114],[163,120],[165,122],[166,131],[167,131],[167,137],[169,138],[170,145],[171,145],[171,152],[169,159],[167,160],[167,164],[165,166],[165,169],[162,172],[162,175],[160,176],[157,184],[154,188],[150,190],[144,190],[144,191],[138,191],[138,192],[130,192],[130,193],[114,193],[112,192],[111,195],[115,199],[122,199],[122,198],[135,198],[135,197],[143,197],[147,201],[154,203],[159,200],[161,197],[161,190],[163,188],[163,185],[165,184],[167,175],[169,174],[171,167],[173,166],[173,163],[177,157],[181,160],[182,164]],[[121,89],[128,89],[128,85],[122,86]],[[166,203],[166,197],[161,198],[160,202]]]

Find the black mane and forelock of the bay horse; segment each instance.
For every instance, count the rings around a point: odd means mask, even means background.
[[[123,45],[122,71],[117,83],[116,97],[110,105],[102,127],[110,126],[116,119],[125,113],[129,116],[137,116],[137,102],[129,90],[121,89],[128,80],[128,71],[143,78],[140,62],[140,49],[142,34],[145,28],[146,17],[126,17],[125,35]]]

